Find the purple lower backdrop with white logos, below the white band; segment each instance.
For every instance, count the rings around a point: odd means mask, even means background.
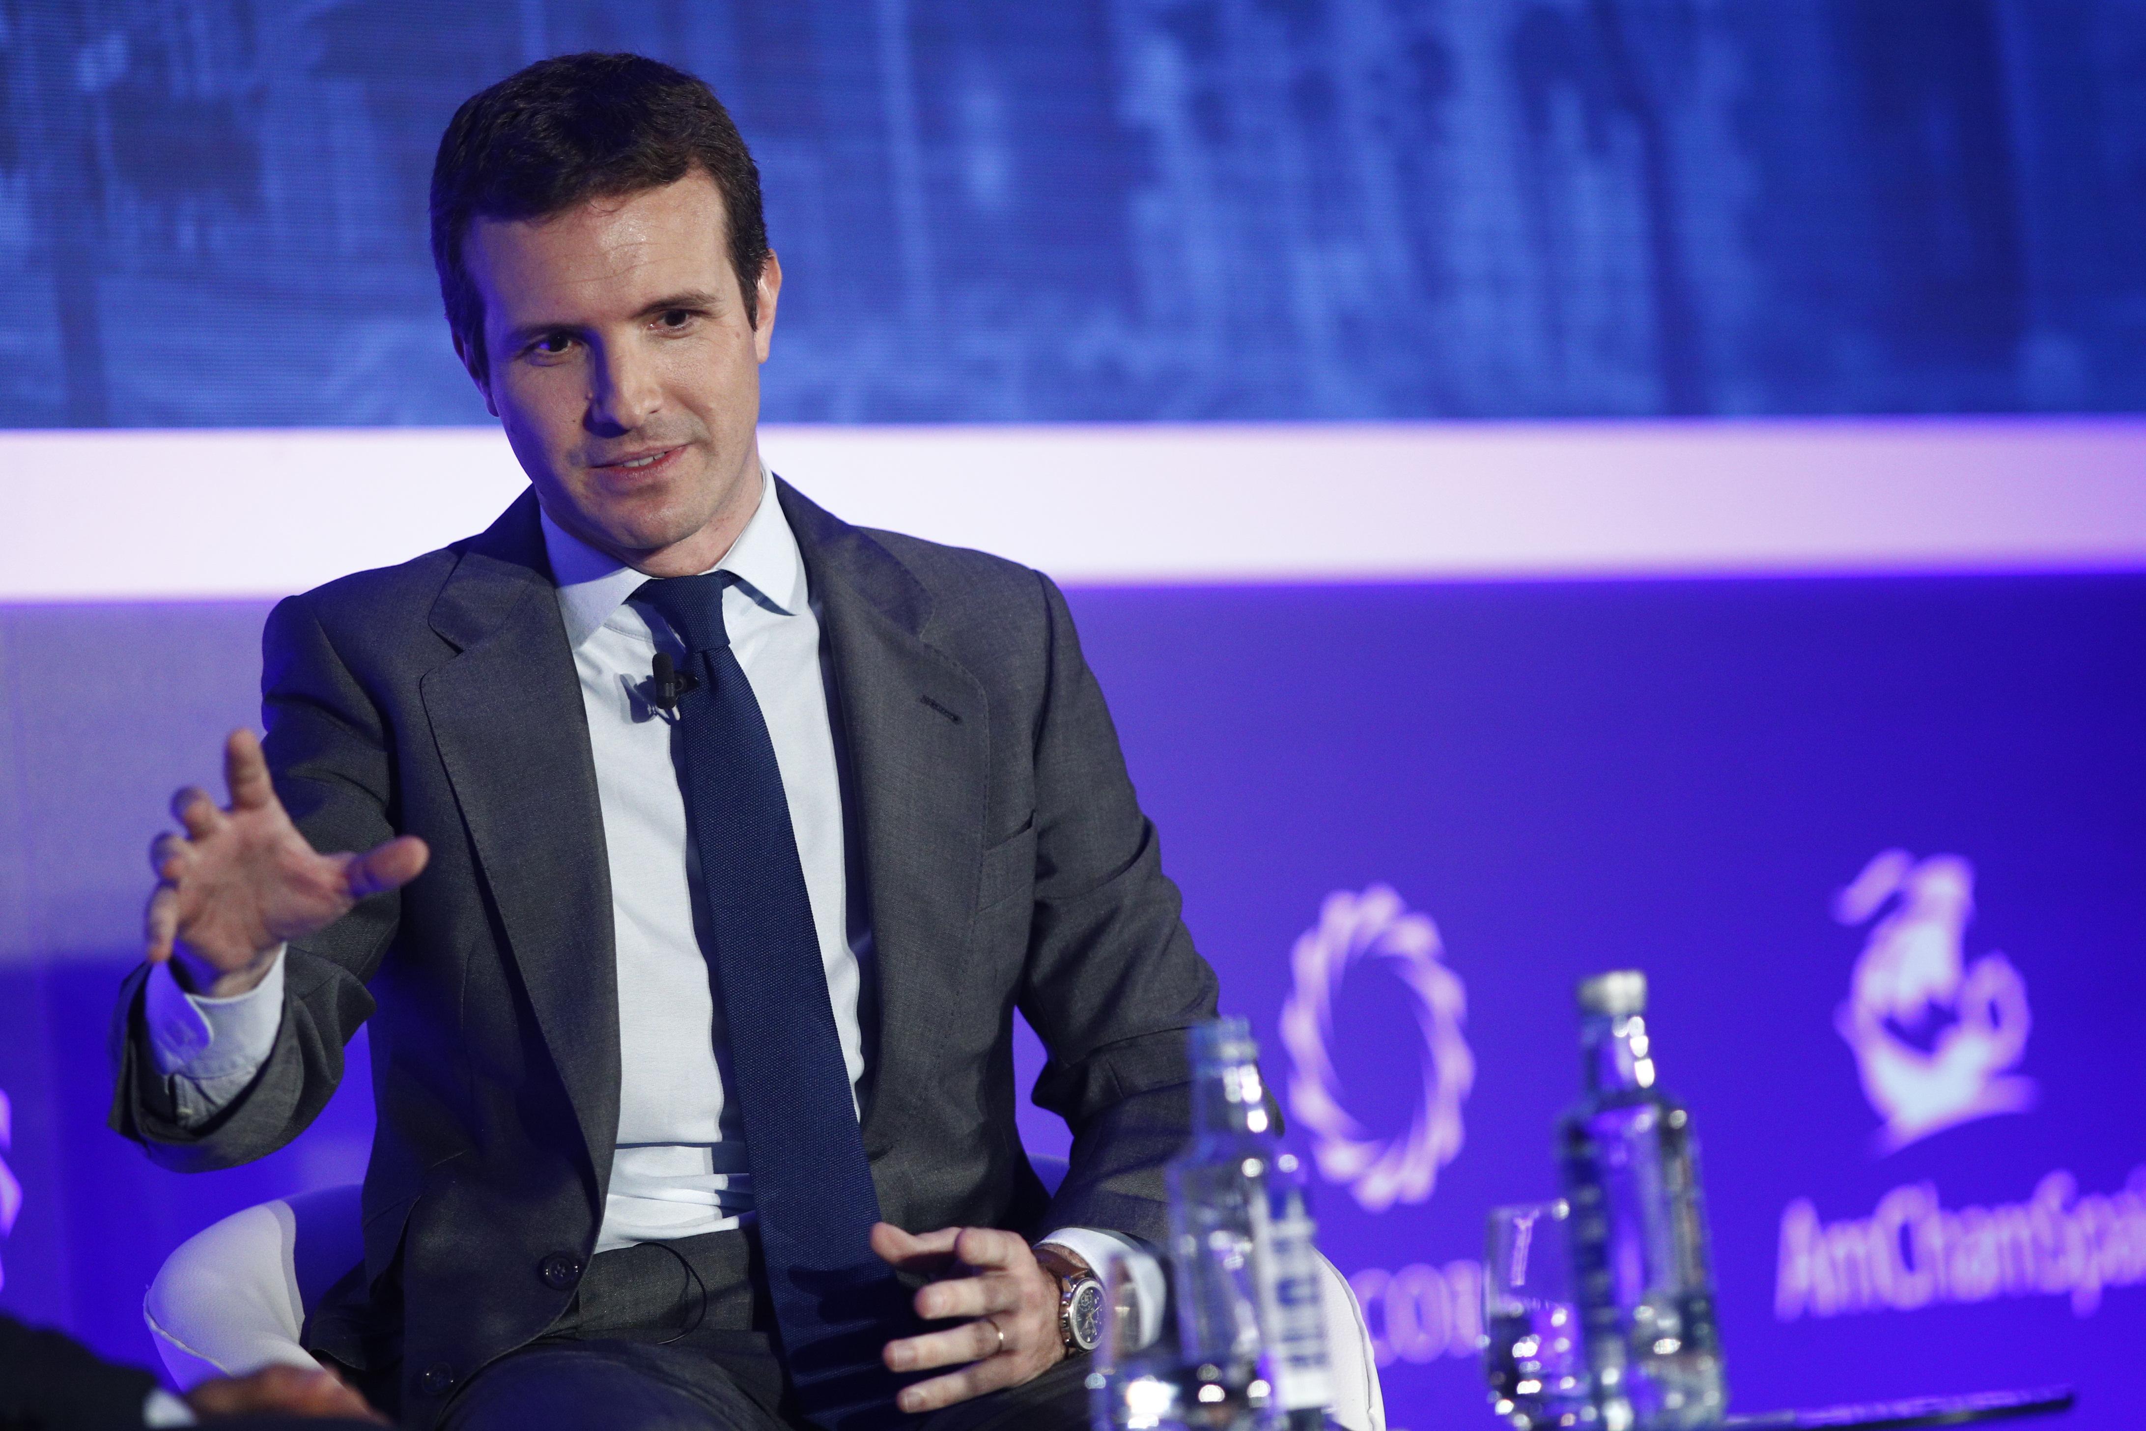
[[[1225,1008],[1296,1086],[1290,1137],[1348,1174],[1322,1240],[1395,1427],[1491,1425],[1481,1219],[1552,1191],[1569,991],[1616,965],[1652,974],[1663,1081],[1695,1109],[1738,1410],[2069,1380],[2071,1425],[2131,1420],[2146,577],[1073,605]],[[172,1244],[358,1176],[369,1137],[363,1049],[249,1169],[161,1174],[103,1131],[139,850],[249,719],[262,609],[0,609],[0,1156],[24,1189],[0,1307],[133,1360]],[[1034,1111],[1026,1135],[1064,1146]]]

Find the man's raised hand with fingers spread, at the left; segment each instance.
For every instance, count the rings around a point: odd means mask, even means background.
[[[431,856],[414,835],[365,854],[315,854],[275,798],[268,762],[249,729],[223,744],[232,802],[217,809],[189,785],[172,796],[185,835],[150,845],[150,963],[172,961],[182,987],[230,998],[258,985],[285,940],[324,929],[367,895],[416,880]]]

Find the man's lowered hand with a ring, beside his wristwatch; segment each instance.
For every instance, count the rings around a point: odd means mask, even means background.
[[[916,1294],[927,1322],[966,1317],[944,1332],[888,1341],[888,1371],[961,1367],[901,1390],[903,1412],[936,1412],[1002,1386],[1019,1386],[1064,1360],[1058,1332],[1058,1279],[1037,1264],[1028,1242],[996,1227],[942,1227],[912,1236],[893,1223],[871,1229],[871,1251],[906,1272],[936,1281]]]

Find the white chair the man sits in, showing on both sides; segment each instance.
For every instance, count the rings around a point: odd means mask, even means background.
[[[1034,1159],[1045,1184],[1064,1163]],[[305,1309],[365,1259],[358,1184],[264,1201],[193,1234],[165,1257],[142,1319],[180,1390],[262,1367],[313,1367],[298,1345]],[[1371,1330],[1348,1279],[1322,1259],[1335,1418],[1348,1431],[1386,1431]]]

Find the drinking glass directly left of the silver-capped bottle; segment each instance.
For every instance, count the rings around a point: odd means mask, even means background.
[[[1573,1304],[1571,1208],[1494,1208],[1483,1257],[1483,1375],[1489,1403],[1519,1431],[1594,1420]]]

